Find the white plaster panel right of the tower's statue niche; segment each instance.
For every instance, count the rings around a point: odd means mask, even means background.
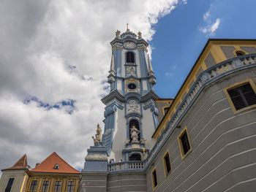
[[[152,139],[152,134],[154,133],[154,120],[152,112],[149,109],[143,110],[143,118],[141,119],[143,128],[143,137],[146,139],[146,147],[151,149],[154,146],[154,139]]]

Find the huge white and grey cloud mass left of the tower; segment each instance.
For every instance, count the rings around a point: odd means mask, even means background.
[[[100,99],[108,93],[109,42],[116,29],[124,31],[129,23],[132,31],[151,40],[152,24],[177,4],[1,1],[0,168],[23,153],[34,166],[53,151],[81,168],[97,123],[104,127]],[[76,110],[69,115],[65,107],[45,110],[36,101],[23,104],[31,96],[51,106],[72,99]]]

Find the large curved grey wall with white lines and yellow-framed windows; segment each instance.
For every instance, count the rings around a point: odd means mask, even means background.
[[[223,88],[252,78],[256,69],[222,77],[208,85],[146,171],[147,190],[157,168],[159,191],[256,191],[256,109],[234,114]],[[178,134],[187,126],[192,151],[181,160]],[[162,157],[169,150],[171,172]]]

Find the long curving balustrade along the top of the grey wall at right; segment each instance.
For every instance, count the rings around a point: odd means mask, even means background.
[[[179,105],[176,113],[170,119],[170,121],[165,125],[165,129],[162,131],[161,136],[157,140],[156,144],[152,148],[151,152],[148,154],[148,158],[145,161],[145,169],[153,161],[154,156],[157,155],[159,149],[165,144],[167,138],[173,132],[173,130],[178,126],[179,121],[186,114],[189,107],[195,101],[199,93],[203,90],[205,85],[217,80],[227,74],[236,72],[236,70],[246,69],[247,67],[256,66],[256,54],[241,55],[236,58],[231,58],[223,61],[219,64],[211,66],[202,72],[197,80],[190,88],[187,96],[185,96],[182,103]]]

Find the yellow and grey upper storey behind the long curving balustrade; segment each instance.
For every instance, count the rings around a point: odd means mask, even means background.
[[[159,126],[156,131],[154,131],[152,138],[157,142],[162,131],[167,127],[167,124],[170,123],[176,110],[180,107],[184,97],[187,96],[187,93],[189,93],[190,88],[192,88],[192,85],[200,74],[228,59],[252,53],[256,53],[255,39],[208,39],[208,42],[205,47],[203,47],[197,61],[195,61],[195,65],[189,72],[187,79],[184,81],[183,85],[181,85],[181,88],[175,99],[171,102],[169,109],[165,111],[165,116],[159,120]],[[250,61],[244,60],[244,62],[249,63]],[[228,66],[221,66],[216,73],[223,73],[228,70],[230,70]]]

